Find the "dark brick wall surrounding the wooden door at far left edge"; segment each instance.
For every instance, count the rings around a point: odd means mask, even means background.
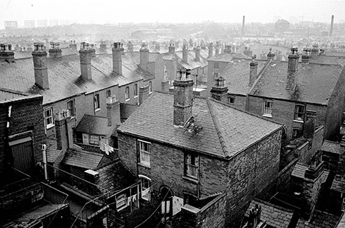
[[[10,117],[9,136],[32,130],[32,146],[34,164],[42,160],[41,144],[44,139],[42,96],[29,99],[14,99],[14,101],[0,102],[0,170],[3,169],[5,160],[4,141],[6,130],[6,116],[8,106],[12,105]]]

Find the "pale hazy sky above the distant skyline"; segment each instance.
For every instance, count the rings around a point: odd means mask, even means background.
[[[304,21],[345,21],[345,0],[0,0],[4,21],[59,19],[79,23],[117,22],[273,22],[290,17]]]

